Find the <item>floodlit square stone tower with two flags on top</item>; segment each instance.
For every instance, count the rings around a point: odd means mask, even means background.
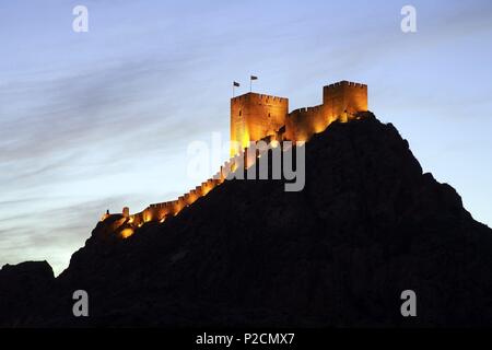
[[[289,100],[257,93],[231,98],[231,156],[285,125]]]

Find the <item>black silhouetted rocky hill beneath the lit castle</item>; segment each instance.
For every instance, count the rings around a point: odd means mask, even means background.
[[[120,217],[98,223],[57,279],[46,262],[3,267],[0,325],[490,326],[492,231],[393,125],[361,117],[306,144],[301,192],[225,182],[127,240]],[[78,289],[87,318],[72,316]]]

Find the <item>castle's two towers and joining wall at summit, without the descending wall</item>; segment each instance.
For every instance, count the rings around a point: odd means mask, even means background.
[[[251,141],[307,141],[332,121],[367,110],[367,85],[341,81],[323,89],[323,104],[289,113],[289,98],[247,93],[231,98],[231,155]]]

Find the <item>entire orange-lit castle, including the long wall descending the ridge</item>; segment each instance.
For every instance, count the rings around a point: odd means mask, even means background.
[[[289,113],[289,100],[284,97],[246,93],[231,98],[231,156],[243,154],[250,142],[293,141],[305,142],[324,131],[331,122],[347,122],[356,118],[358,112],[367,110],[367,85],[341,81],[324,86],[323,104]],[[122,217],[115,224],[126,223],[120,236],[133,234],[133,229],[145,222],[164,222],[171,215],[177,215],[183,208],[192,205],[206,196],[215,186],[222,184],[231,171],[232,159],[210,179],[176,200],[151,205],[143,211],[130,214],[124,208]],[[110,214],[107,212],[102,220]],[[116,228],[115,228],[116,229]]]

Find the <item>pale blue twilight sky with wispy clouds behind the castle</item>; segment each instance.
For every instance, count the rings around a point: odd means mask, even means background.
[[[89,33],[72,31],[78,4]],[[231,83],[246,92],[250,73],[291,109],[368,84],[370,109],[492,225],[490,0],[1,0],[0,44],[0,266],[59,273],[106,209],[198,185],[187,147],[229,139]]]

